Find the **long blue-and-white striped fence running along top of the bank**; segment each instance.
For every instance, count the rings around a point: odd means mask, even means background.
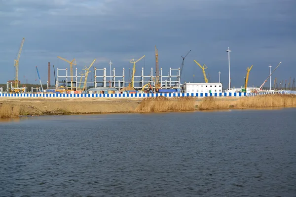
[[[138,94],[30,94],[1,93],[0,97],[14,98],[147,98],[147,97],[254,97],[265,94],[294,94],[296,91],[277,91],[260,93],[138,93]]]

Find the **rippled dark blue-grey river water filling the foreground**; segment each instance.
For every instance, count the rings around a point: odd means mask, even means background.
[[[296,197],[296,108],[0,123],[0,196]]]

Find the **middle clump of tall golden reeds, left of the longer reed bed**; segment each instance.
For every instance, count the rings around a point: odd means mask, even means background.
[[[143,99],[135,112],[193,111],[194,97],[150,97]]]

